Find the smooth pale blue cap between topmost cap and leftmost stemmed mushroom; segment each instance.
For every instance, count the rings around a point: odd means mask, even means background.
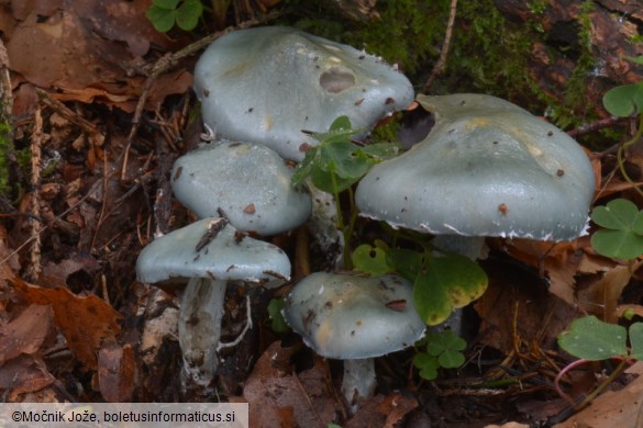
[[[269,236],[293,229],[310,216],[310,194],[295,189],[291,176],[268,147],[223,140],[178,158],[171,188],[199,217],[222,210],[234,227]]]

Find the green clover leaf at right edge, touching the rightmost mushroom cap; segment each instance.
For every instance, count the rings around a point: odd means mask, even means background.
[[[633,259],[643,254],[643,212],[624,199],[597,206],[591,219],[605,229],[591,236],[591,246],[601,255]]]

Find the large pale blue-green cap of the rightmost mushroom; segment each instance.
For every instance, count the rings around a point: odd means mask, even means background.
[[[419,95],[428,137],[375,166],[362,214],[435,235],[569,240],[586,233],[594,171],[566,133],[498,98]]]

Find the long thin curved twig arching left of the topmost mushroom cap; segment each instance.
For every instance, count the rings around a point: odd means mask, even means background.
[[[233,31],[236,31],[236,30],[243,30],[243,29],[247,29],[247,27],[255,26],[258,24],[263,24],[267,21],[274,20],[275,18],[277,18],[277,15],[278,15],[278,12],[273,11],[273,12],[270,12],[262,18],[245,21],[245,22],[242,22],[241,24],[235,25],[235,26],[229,26],[225,30],[210,34],[209,36],[203,37],[200,41],[197,41],[197,42],[184,47],[182,49],[180,49],[174,54],[168,53],[168,54],[164,55],[163,57],[158,58],[158,60],[156,61],[154,67],[152,67],[152,70],[149,71],[149,76],[145,80],[145,85],[143,85],[143,91],[141,92],[141,98],[138,99],[138,103],[136,104],[136,109],[134,110],[134,117],[132,119],[132,127],[130,128],[130,134],[128,135],[128,143],[125,146],[125,151],[124,151],[124,156],[123,156],[123,164],[121,167],[121,181],[125,180],[125,174],[128,171],[128,159],[130,157],[130,147],[132,146],[132,142],[134,139],[134,136],[136,135],[136,132],[138,131],[138,124],[141,123],[141,116],[143,115],[143,109],[145,106],[145,102],[147,101],[147,97],[149,95],[149,90],[152,89],[152,85],[154,83],[154,80],[156,80],[156,78],[158,76],[160,76],[163,72],[165,72],[168,69],[170,69],[171,67],[176,66],[180,59],[196,54],[197,52],[201,50],[202,48],[208,46],[210,43],[215,41],[217,38],[225,35],[228,33],[231,33]]]

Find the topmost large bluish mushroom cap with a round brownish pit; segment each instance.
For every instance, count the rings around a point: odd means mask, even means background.
[[[396,68],[351,46],[285,26],[235,31],[214,41],[195,68],[203,122],[225,138],[265,144],[301,160],[347,115],[372,127],[413,101]]]

